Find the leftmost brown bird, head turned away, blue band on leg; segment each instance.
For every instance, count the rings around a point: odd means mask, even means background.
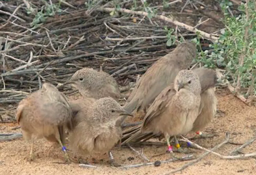
[[[21,126],[25,140],[32,142],[29,161],[34,157],[34,139],[42,137],[48,141],[58,142],[64,151],[66,161],[69,161],[64,143],[66,124],[71,120],[71,108],[57,87],[44,83],[42,89],[21,100],[16,120]]]

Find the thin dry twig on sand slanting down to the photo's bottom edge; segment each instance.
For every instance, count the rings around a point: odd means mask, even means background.
[[[215,146],[214,148],[211,149],[211,151],[214,151],[218,148],[220,148],[221,146],[225,145],[226,143],[229,142],[229,136],[230,134],[229,133],[226,133],[225,135],[225,141],[220,143],[219,145]],[[203,157],[207,156],[208,154],[210,154],[211,152],[205,152],[204,154],[202,154],[201,156],[199,156],[197,159],[193,160],[193,161],[190,161],[190,163],[186,163],[185,165],[183,165],[182,167],[180,167],[179,169],[175,169],[175,170],[172,170],[170,172],[167,172],[163,175],[168,175],[168,174],[173,174],[175,172],[178,172],[178,171],[181,171],[181,170],[184,170],[186,169],[187,167],[191,166],[191,165],[194,165],[195,163],[198,163],[198,161],[200,161],[201,159],[203,159]]]

